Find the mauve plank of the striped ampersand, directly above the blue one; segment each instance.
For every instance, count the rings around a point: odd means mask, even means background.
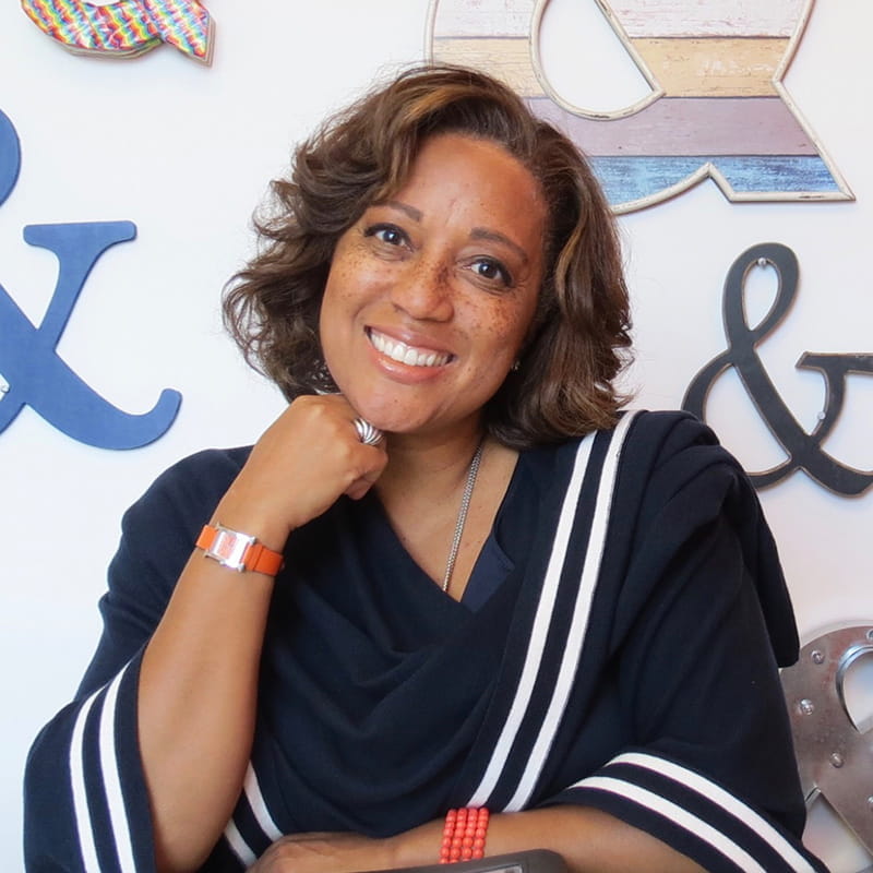
[[[534,111],[589,155],[817,155],[779,97],[662,97],[642,112],[613,119],[569,112],[548,97]]]

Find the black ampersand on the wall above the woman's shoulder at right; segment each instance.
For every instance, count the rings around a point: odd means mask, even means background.
[[[751,328],[743,309],[745,280],[753,267],[767,264],[776,270],[779,278],[776,299],[761,324]],[[873,471],[840,464],[822,449],[822,441],[830,433],[842,410],[846,376],[849,373],[873,373],[873,355],[804,351],[800,356],[796,364],[798,368],[818,370],[825,378],[824,412],[820,415],[812,433],[806,433],[779,396],[755,351],[755,346],[788,312],[797,294],[799,273],[794,253],[778,242],[753,246],[733,262],[725,280],[722,299],[728,348],[694,376],[682,400],[682,408],[703,420],[709,390],[728,368],[733,367],[764,422],[788,454],[788,458],[778,466],[750,474],[753,485],[766,488],[796,469],[803,469],[820,485],[838,494],[860,494],[873,485]]]

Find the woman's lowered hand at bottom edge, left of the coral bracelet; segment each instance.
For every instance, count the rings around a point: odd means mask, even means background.
[[[357,873],[392,866],[391,840],[358,834],[294,834],[277,839],[248,873]]]

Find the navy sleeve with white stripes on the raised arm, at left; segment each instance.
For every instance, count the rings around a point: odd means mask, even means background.
[[[163,474],[124,514],[100,599],[103,634],[73,701],[36,738],[24,777],[28,873],[152,873],[137,743],[142,653],[196,533],[246,450],[200,453]]]

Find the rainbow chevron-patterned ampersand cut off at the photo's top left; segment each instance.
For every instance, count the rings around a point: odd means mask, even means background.
[[[162,43],[202,63],[212,59],[213,21],[196,0],[21,0],[40,31],[82,55],[130,58]]]

